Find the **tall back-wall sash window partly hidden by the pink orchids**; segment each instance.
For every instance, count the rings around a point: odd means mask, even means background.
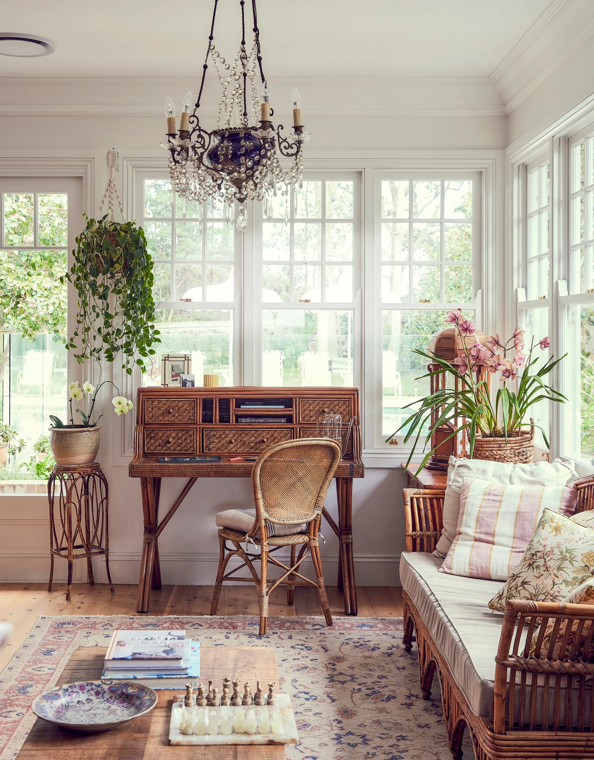
[[[382,400],[375,443],[382,446],[411,413],[405,407],[429,392],[428,379],[418,379],[425,362],[412,350],[426,350],[447,326],[447,309],[476,317],[480,179],[380,173],[376,193]]]

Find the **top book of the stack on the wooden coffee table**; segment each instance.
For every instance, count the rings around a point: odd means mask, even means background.
[[[184,650],[185,631],[115,631],[105,664],[125,670],[182,668]]]

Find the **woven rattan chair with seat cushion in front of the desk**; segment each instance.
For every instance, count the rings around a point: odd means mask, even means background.
[[[318,531],[324,499],[340,457],[341,448],[336,442],[313,438],[279,443],[260,454],[251,473],[255,518],[251,515],[250,519],[254,519],[254,523],[251,527],[248,526],[247,530],[236,530],[237,523],[226,516],[239,510],[220,512],[217,515],[216,522],[223,527],[219,530],[219,571],[216,574],[211,615],[216,615],[223,581],[254,582],[258,591],[262,636],[266,633],[270,591],[279,585],[286,586],[287,603],[292,604],[295,586],[313,586],[318,589],[327,625],[332,625],[324,587]],[[244,519],[247,516],[245,512],[239,516],[242,515]],[[234,524],[235,527],[227,527],[228,523]],[[235,548],[230,549],[227,541]],[[242,543],[245,543],[245,550],[242,549]],[[296,548],[299,545],[301,549],[295,561]],[[255,553],[258,546],[260,551]],[[290,567],[270,556],[283,546],[291,547]],[[299,565],[309,553],[314,562],[317,581],[310,581],[297,572]],[[239,556],[243,564],[225,573],[229,559],[233,556]],[[260,577],[253,564],[258,561],[261,562]],[[280,578],[268,580],[268,562],[281,569]],[[251,578],[238,578],[235,573],[245,567],[251,573]]]

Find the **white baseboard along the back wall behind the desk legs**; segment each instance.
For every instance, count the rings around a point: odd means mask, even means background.
[[[210,586],[219,565],[218,553],[160,553],[161,577],[166,585]],[[278,555],[281,562],[283,557]],[[359,586],[400,586],[400,554],[355,554],[355,578]],[[141,555],[137,552],[109,554],[109,570],[114,583],[138,583]],[[322,555],[324,578],[336,584],[338,555]],[[55,558],[54,580],[66,580],[67,563]],[[86,580],[87,564],[74,563],[74,581]],[[314,578],[311,561],[305,560],[304,573]],[[93,560],[93,574],[97,583],[106,583],[105,562]],[[5,583],[45,583],[49,577],[49,556],[39,552],[0,551],[0,580]]]

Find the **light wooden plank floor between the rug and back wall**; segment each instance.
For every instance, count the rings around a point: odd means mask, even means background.
[[[343,595],[326,588],[333,616],[344,616]],[[55,583],[51,593],[43,583],[0,583],[0,620],[14,625],[14,633],[0,651],[0,670],[21,646],[39,615],[137,615],[138,587],[73,584],[72,601],[65,600],[66,585]],[[163,586],[151,591],[149,615],[208,615],[212,586]],[[400,587],[360,586],[357,589],[359,617],[402,617]],[[223,586],[218,615],[258,615],[256,591],[251,584]],[[313,588],[295,588],[295,605],[286,603],[286,589],[277,588],[270,597],[270,616],[321,616],[318,594]]]

